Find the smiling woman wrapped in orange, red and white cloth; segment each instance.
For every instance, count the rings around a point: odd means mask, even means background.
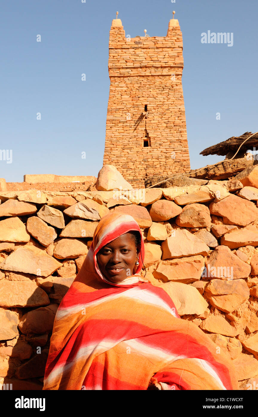
[[[132,216],[99,221],[57,310],[44,390],[238,389],[226,356],[140,276],[143,260]]]

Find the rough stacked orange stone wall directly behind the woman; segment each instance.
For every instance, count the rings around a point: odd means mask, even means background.
[[[124,193],[31,189],[1,191],[0,200],[1,384],[42,389],[58,305],[98,221],[115,210],[132,215],[143,232],[143,276],[228,355],[239,387],[256,389],[256,187],[233,179]]]

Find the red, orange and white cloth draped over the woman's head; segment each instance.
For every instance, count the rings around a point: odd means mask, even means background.
[[[141,236],[139,265],[135,271],[135,274],[128,276],[128,278],[121,282],[115,283],[109,281],[101,273],[98,267],[97,253],[103,248],[103,246],[106,246],[111,241],[117,239],[119,236],[125,233],[128,233],[129,231],[138,231]],[[101,280],[114,286],[129,287],[132,285],[138,285],[141,282],[148,282],[148,280],[144,279],[140,275],[140,271],[143,267],[144,255],[145,251],[143,234],[140,227],[138,226],[138,223],[129,214],[121,214],[113,211],[112,213],[106,214],[106,216],[102,217],[102,219],[99,221],[93,234],[91,247],[79,273],[76,276],[75,281],[83,282],[84,279],[87,279],[86,276],[91,274],[91,279],[96,279],[96,281]]]

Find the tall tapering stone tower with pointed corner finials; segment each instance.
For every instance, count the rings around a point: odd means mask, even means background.
[[[190,170],[182,89],[182,32],[171,19],[167,36],[125,36],[120,19],[109,35],[108,100],[103,165],[133,187],[149,175]]]

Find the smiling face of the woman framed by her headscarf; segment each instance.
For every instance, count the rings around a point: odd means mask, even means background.
[[[137,256],[135,237],[125,233],[98,251],[98,267],[109,281],[121,282],[135,274]]]

